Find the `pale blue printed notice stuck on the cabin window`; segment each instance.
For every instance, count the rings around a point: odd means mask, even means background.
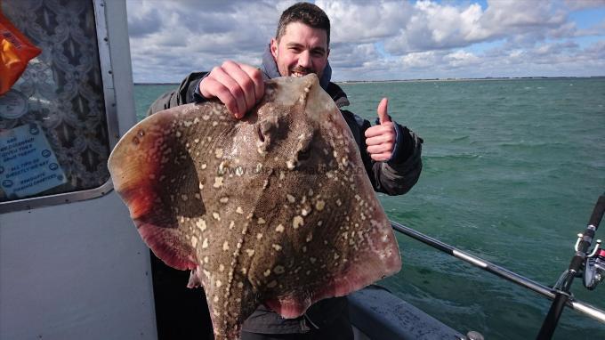
[[[24,198],[67,182],[39,125],[0,131],[0,187],[7,198]]]

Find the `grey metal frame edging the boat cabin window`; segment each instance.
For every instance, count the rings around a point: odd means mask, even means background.
[[[103,97],[105,102],[109,150],[113,150],[119,140],[119,126],[117,120],[116,86],[114,85],[111,57],[109,53],[109,35],[107,16],[105,13],[105,1],[91,1],[93,2],[94,9],[94,26],[97,34],[97,48],[99,51],[99,66],[101,69],[101,83],[103,86]],[[31,210],[41,206],[57,206],[91,198],[99,198],[107,195],[111,190],[113,190],[113,182],[109,176],[106,182],[93,189],[76,190],[0,202],[0,214],[20,210]]]

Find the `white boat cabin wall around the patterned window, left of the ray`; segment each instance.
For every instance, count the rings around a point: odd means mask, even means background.
[[[12,5],[22,8],[30,4],[38,6],[43,13],[41,20],[48,25],[61,25],[61,22],[55,21],[60,18],[55,16],[56,11],[63,11],[66,7],[80,11],[85,3],[81,0],[60,3],[21,0],[1,4],[7,17]],[[119,135],[124,134],[136,121],[126,6],[125,1],[115,0],[90,3],[88,6],[95,12],[93,17],[99,32],[98,41],[94,44],[99,47],[96,62],[100,65],[102,77],[101,106],[107,112],[107,125],[117,127],[116,131],[112,131],[111,127],[106,130],[109,132],[110,150]],[[74,15],[73,18],[77,17]],[[57,29],[56,32],[59,34],[64,30]],[[24,33],[28,35],[27,30]],[[70,41],[66,36],[62,45],[40,45],[43,52],[32,61],[34,69],[28,71],[43,68],[43,62],[36,62],[48,58],[49,55],[44,53],[49,53],[52,48],[55,48],[53,51],[64,49],[66,53],[75,51],[75,56],[78,56],[81,46],[78,47],[77,43],[82,43],[78,40],[81,36],[72,38],[73,41]],[[66,69],[61,64],[63,61],[56,61],[52,68],[49,67],[53,71],[48,73],[49,78],[45,80],[70,80],[57,77],[61,70]],[[28,67],[31,68],[32,63]],[[90,80],[89,83],[97,80]],[[20,79],[21,83],[18,82],[13,89],[15,93],[17,90],[25,93],[29,108],[35,109],[36,105],[48,102],[44,101],[44,95],[52,96],[53,92],[26,93],[24,87],[19,86],[27,81]],[[39,81],[36,84],[39,85]],[[82,93],[84,89],[79,91]],[[91,95],[95,93],[98,92]],[[38,99],[32,101],[32,96],[36,95]],[[72,103],[66,100],[58,102],[60,105],[77,106],[76,100]],[[48,110],[44,112],[48,113]],[[67,117],[57,116],[66,115],[65,112],[58,111],[56,115],[52,114],[52,109],[50,112],[46,116],[48,119]],[[25,112],[22,118],[27,114]],[[82,117],[89,118],[86,115]],[[17,123],[16,119],[19,118],[0,118],[0,125],[4,125],[0,126],[0,131],[19,128],[22,123]],[[40,119],[39,126],[51,128],[52,123],[52,120]],[[67,129],[67,125],[61,127]],[[50,135],[47,133],[47,137]],[[48,138],[52,145],[60,142]],[[59,154],[60,150],[54,153]],[[69,167],[65,166],[64,170],[67,174]],[[59,195],[63,203],[58,204],[55,199],[51,206],[11,209],[11,202],[7,202],[4,196],[1,202],[3,210],[0,212],[1,339],[157,338],[149,249],[142,243],[124,203],[111,190],[109,178],[103,181],[100,185],[105,189],[94,195],[99,196],[97,198],[77,200],[72,196]]]

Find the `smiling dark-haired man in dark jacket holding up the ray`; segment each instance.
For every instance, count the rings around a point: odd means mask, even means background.
[[[343,90],[330,83],[330,21],[314,4],[298,3],[281,15],[276,37],[262,58],[262,69],[225,61],[209,74],[192,73],[178,90],[165,93],[148,114],[191,101],[218,99],[237,118],[262,99],[263,79],[303,77],[315,73],[320,85],[343,108],[349,101]],[[407,127],[395,124],[387,114],[387,99],[378,105],[378,125],[341,110],[359,146],[370,182],[389,195],[406,193],[422,169],[422,139]],[[319,301],[300,318],[285,320],[261,305],[243,325],[242,339],[352,339],[345,297]]]

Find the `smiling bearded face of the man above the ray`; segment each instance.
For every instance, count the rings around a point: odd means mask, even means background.
[[[281,76],[303,77],[315,73],[319,79],[327,65],[327,32],[311,28],[302,22],[291,22],[286,33],[271,39],[271,54]]]

